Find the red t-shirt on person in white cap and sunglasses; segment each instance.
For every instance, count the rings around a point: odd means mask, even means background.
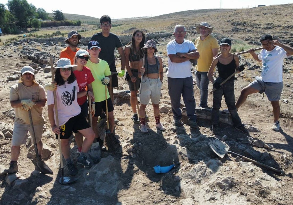
[[[91,70],[86,66],[82,68],[82,71],[75,70],[73,73],[76,77],[79,91],[86,90],[86,86],[95,80],[91,74]],[[77,102],[79,105],[84,104],[86,102],[86,95],[81,98],[77,98]]]

